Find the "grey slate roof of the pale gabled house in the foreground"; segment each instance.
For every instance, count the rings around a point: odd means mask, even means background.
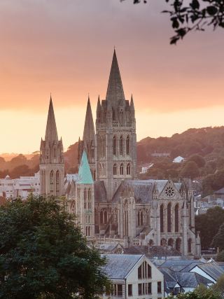
[[[107,264],[103,267],[109,279],[125,279],[142,255],[132,254],[104,254]]]

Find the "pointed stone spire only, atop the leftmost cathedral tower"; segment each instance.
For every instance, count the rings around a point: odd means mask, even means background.
[[[58,141],[57,126],[55,122],[55,113],[52,104],[52,98],[50,94],[50,104],[48,109],[48,121],[45,132],[45,141]]]

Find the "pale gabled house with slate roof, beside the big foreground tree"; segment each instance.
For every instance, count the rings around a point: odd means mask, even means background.
[[[105,254],[105,274],[111,279],[112,293],[101,298],[162,299],[164,277],[162,272],[144,255]]]

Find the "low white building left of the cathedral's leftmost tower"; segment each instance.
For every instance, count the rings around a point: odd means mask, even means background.
[[[6,176],[0,179],[0,196],[5,198],[22,197],[27,198],[29,193],[40,194],[40,174],[37,172],[34,176],[20,176],[19,179],[11,179]]]

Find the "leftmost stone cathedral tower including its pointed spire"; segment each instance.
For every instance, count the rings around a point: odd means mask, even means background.
[[[64,156],[62,138],[58,140],[55,113],[50,97],[45,140],[40,148],[41,195],[64,195]]]

